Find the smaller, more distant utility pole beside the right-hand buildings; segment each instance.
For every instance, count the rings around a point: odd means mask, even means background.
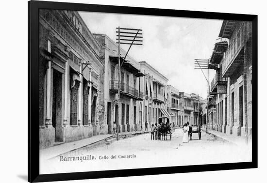
[[[208,109],[209,109],[209,60],[208,59],[195,59],[195,69],[201,69],[205,79],[207,80],[207,116],[206,116],[206,132],[208,132]],[[202,69],[207,69],[207,77]]]

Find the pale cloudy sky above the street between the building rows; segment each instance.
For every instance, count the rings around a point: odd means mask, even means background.
[[[116,41],[116,27],[143,30],[143,45],[132,46],[129,55],[146,61],[168,78],[179,92],[207,97],[207,81],[195,59],[210,59],[222,20],[79,12],[92,33],[101,33]],[[128,50],[129,45],[123,45]],[[203,70],[207,76],[207,70]],[[209,81],[215,75],[209,70]]]

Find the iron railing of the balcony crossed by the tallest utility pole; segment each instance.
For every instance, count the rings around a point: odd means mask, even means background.
[[[118,90],[118,86],[119,86],[119,90],[121,92],[124,92],[126,94],[132,95],[132,96],[137,97],[137,98],[141,98],[141,99],[144,98],[143,92],[139,92],[135,88],[133,88],[133,87],[131,87],[125,83],[118,82],[118,80],[109,81],[109,90],[113,90],[113,91]]]

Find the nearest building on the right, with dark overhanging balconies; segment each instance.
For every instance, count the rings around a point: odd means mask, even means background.
[[[211,57],[210,69],[216,75],[210,94],[216,100],[214,130],[245,136],[252,126],[252,24],[224,20]]]

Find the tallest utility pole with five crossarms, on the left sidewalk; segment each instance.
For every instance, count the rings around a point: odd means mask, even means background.
[[[142,35],[141,29],[128,29],[128,28],[116,28],[117,31],[117,44],[118,44],[118,98],[117,98],[117,103],[118,103],[118,119],[117,119],[117,140],[119,140],[119,119],[120,119],[120,85],[123,85],[124,83],[120,83],[121,79],[121,66],[125,62],[125,59],[133,45],[143,45],[142,42],[143,40],[140,38],[143,38],[142,36],[137,36],[137,35]],[[126,30],[126,31],[120,31],[120,30]],[[122,39],[121,39],[122,37]],[[136,39],[137,38],[137,39]],[[141,43],[140,43],[141,42]],[[125,56],[123,57],[123,60],[121,61],[122,57],[120,56],[120,44],[125,44],[125,45],[130,45],[128,51],[126,52]],[[121,61],[121,63],[120,63]],[[116,82],[114,82],[114,85],[116,86]]]

